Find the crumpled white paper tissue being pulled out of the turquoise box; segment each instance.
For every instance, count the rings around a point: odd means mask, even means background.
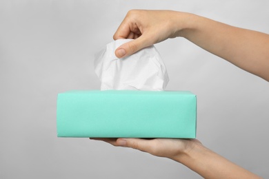
[[[94,70],[101,81],[101,90],[139,89],[162,91],[169,81],[161,56],[154,45],[118,59],[115,50],[132,39],[108,43],[95,55]]]

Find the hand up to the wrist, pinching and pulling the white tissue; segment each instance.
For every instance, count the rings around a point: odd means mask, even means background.
[[[142,48],[179,36],[188,16],[188,13],[171,10],[130,10],[113,39],[135,40],[117,48],[116,56],[128,56]]]

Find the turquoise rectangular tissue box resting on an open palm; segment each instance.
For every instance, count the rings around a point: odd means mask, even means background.
[[[195,138],[197,100],[191,92],[132,90],[58,94],[58,137]]]

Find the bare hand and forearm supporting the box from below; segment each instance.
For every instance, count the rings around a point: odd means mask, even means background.
[[[114,146],[131,147],[154,156],[166,157],[180,162],[203,178],[260,178],[254,173],[235,165],[214,151],[204,147],[196,139],[156,138],[93,138]]]

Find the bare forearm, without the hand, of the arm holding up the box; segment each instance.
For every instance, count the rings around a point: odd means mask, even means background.
[[[186,165],[203,178],[260,178],[203,147],[203,145],[195,145],[191,150],[172,159]]]

